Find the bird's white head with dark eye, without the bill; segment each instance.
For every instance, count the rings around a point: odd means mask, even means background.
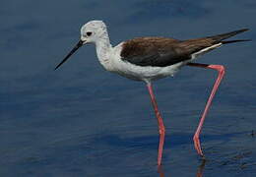
[[[81,28],[81,40],[85,43],[96,43],[96,41],[108,37],[106,26],[102,21],[90,21]]]

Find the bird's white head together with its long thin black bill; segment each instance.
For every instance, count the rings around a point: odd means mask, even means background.
[[[81,28],[81,39],[76,46],[68,53],[68,55],[55,68],[59,68],[67,59],[86,43],[108,43],[109,38],[105,24],[102,21],[90,21]]]

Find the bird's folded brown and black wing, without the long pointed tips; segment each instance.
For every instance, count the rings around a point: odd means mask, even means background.
[[[180,40],[163,37],[141,37],[123,44],[121,57],[138,66],[165,67],[190,59],[179,47]]]

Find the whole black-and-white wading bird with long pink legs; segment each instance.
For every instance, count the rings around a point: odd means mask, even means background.
[[[248,29],[238,29],[217,35],[192,39],[175,39],[170,37],[145,36],[122,41],[116,46],[110,44],[108,31],[103,21],[93,20],[81,28],[81,37],[75,47],[55,67],[57,70],[81,46],[94,43],[99,63],[106,71],[119,74],[122,77],[144,82],[150,93],[151,102],[156,113],[159,126],[160,142],[158,150],[158,166],[164,144],[165,127],[158,107],[152,83],[165,77],[174,76],[182,67],[200,67],[218,71],[218,77],[207,100],[199,125],[193,137],[194,147],[198,154],[204,157],[200,133],[212,100],[219,88],[225,73],[223,65],[202,64],[194,61],[201,55],[221,47],[222,45],[249,41],[250,39],[226,40],[233,35]]]

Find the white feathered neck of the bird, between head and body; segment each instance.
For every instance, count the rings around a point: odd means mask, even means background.
[[[110,52],[112,45],[110,44],[107,31],[100,35],[96,40],[96,55],[100,64],[106,69],[110,70]]]

